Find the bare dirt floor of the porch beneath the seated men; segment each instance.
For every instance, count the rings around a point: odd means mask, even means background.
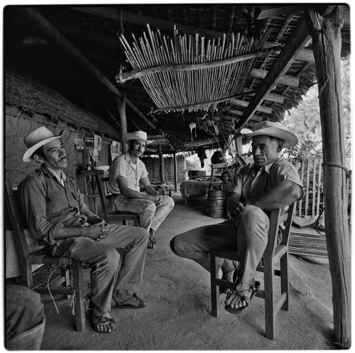
[[[281,310],[274,340],[264,336],[264,301],[253,298],[240,315],[224,310],[219,297],[218,318],[211,312],[209,273],[170,250],[174,235],[199,225],[219,223],[205,215],[205,198],[184,206],[173,194],[175,208],[156,232],[158,244],[148,250],[138,296],[148,306],[112,310],[118,330],[95,332],[87,315],[84,332],[75,331],[70,300],[43,296],[47,317],[43,350],[270,350],[337,349],[332,342],[332,285],[329,265],[313,264],[290,255],[290,310]]]

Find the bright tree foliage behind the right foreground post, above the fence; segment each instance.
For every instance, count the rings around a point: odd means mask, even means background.
[[[350,59],[342,61],[342,108],[346,156],[351,155]],[[297,158],[322,158],[322,129],[318,87],[312,86],[302,103],[290,111],[283,125],[297,135],[299,143],[289,154]]]

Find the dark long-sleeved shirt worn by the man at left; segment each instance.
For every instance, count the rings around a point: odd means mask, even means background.
[[[28,228],[39,245],[55,245],[55,235],[64,227],[80,227],[96,216],[84,203],[77,182],[67,177],[64,185],[44,164],[18,185]]]

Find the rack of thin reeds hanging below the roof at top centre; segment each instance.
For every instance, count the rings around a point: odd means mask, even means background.
[[[133,71],[120,72],[116,80],[141,79],[155,111],[215,110],[242,92],[251,62],[266,55],[257,51],[258,40],[239,33],[206,40],[176,28],[173,38],[147,28],[141,38],[132,34],[132,45],[120,35]]]

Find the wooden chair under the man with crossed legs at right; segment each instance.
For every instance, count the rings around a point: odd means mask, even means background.
[[[264,289],[259,290],[256,296],[265,299],[265,325],[266,337],[273,340],[275,335],[276,315],[280,309],[288,310],[289,308],[289,280],[288,280],[288,238],[290,235],[290,226],[293,218],[294,203],[288,207],[287,211],[283,209],[271,211],[270,228],[268,231],[268,244],[263,253],[263,258],[258,264],[256,271],[263,272]],[[277,237],[279,225],[283,224],[282,240],[277,245]],[[233,289],[233,282],[225,281],[218,278],[216,270],[216,258],[231,259],[240,261],[238,252],[212,250],[210,252],[211,262],[211,298],[212,298],[212,315],[217,318],[217,286]],[[280,269],[275,269],[275,264],[280,261]],[[275,276],[280,277],[281,293],[276,298],[275,293]]]

